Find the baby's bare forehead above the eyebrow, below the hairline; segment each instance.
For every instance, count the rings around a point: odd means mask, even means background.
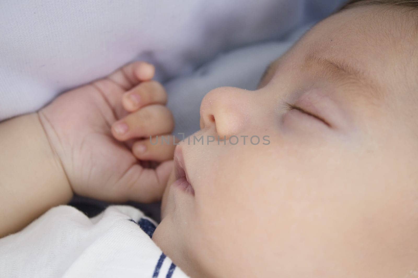
[[[389,94],[410,92],[415,98],[418,89],[415,19],[415,14],[384,10],[377,5],[351,8],[314,26],[296,48],[305,55],[316,53],[352,65]]]

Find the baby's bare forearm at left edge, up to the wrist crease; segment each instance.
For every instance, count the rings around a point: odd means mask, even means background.
[[[38,114],[0,123],[0,238],[72,195]]]

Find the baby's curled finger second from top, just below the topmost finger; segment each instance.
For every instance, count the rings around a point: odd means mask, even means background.
[[[125,110],[133,112],[150,104],[166,104],[167,93],[163,85],[155,80],[140,83],[122,96]]]

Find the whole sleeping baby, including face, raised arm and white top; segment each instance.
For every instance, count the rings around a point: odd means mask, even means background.
[[[2,123],[2,271],[418,277],[417,18],[416,0],[352,1],[257,90],[210,91],[184,140],[143,62]],[[162,198],[162,220],[87,218],[74,193]]]

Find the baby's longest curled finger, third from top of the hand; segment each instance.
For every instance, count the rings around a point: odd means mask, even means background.
[[[112,125],[112,134],[119,141],[173,131],[171,111],[163,105],[153,104],[127,115]]]

